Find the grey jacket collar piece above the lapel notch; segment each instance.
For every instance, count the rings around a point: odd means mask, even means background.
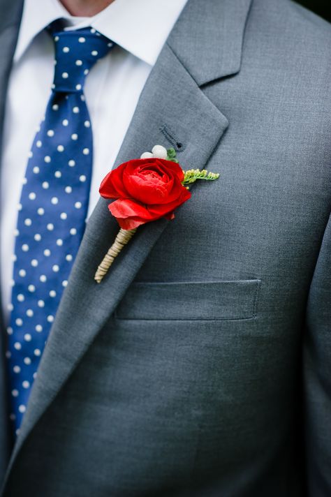
[[[189,0],[168,45],[199,86],[240,71],[252,0]],[[205,10],[212,10],[205,22]]]

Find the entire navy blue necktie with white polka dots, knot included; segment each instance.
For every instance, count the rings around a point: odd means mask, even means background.
[[[15,232],[7,357],[16,433],[84,233],[93,151],[84,80],[113,46],[90,27],[50,32],[52,94],[29,154]]]

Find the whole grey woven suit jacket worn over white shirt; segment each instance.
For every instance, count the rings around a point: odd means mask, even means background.
[[[0,7],[2,122],[22,6]],[[188,1],[117,164],[160,143],[221,176],[96,285],[100,200],[13,450],[1,359],[2,497],[331,495],[328,59],[288,0]]]

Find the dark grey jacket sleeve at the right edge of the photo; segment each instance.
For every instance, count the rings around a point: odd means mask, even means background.
[[[309,290],[303,354],[307,494],[330,497],[331,217]]]

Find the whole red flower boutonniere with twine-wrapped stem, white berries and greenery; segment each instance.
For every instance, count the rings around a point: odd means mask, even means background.
[[[198,179],[214,180],[219,174],[206,170],[182,170],[175,149],[155,145],[138,159],[125,162],[103,179],[99,192],[103,198],[115,198],[108,209],[120,230],[115,242],[98,266],[94,279],[101,283],[119,252],[141,224],[161,217],[173,219],[179,205],[191,198],[189,185]]]

